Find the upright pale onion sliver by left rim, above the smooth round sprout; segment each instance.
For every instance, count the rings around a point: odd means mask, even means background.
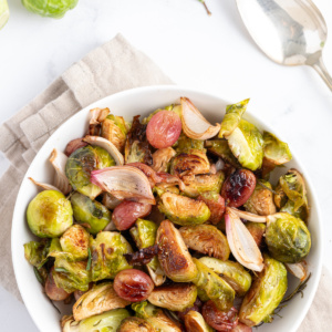
[[[50,156],[50,163],[54,167],[55,177],[54,186],[60,189],[64,195],[68,195],[72,190],[72,186],[69,183],[68,177],[65,176],[65,164],[68,156],[54,148]]]

